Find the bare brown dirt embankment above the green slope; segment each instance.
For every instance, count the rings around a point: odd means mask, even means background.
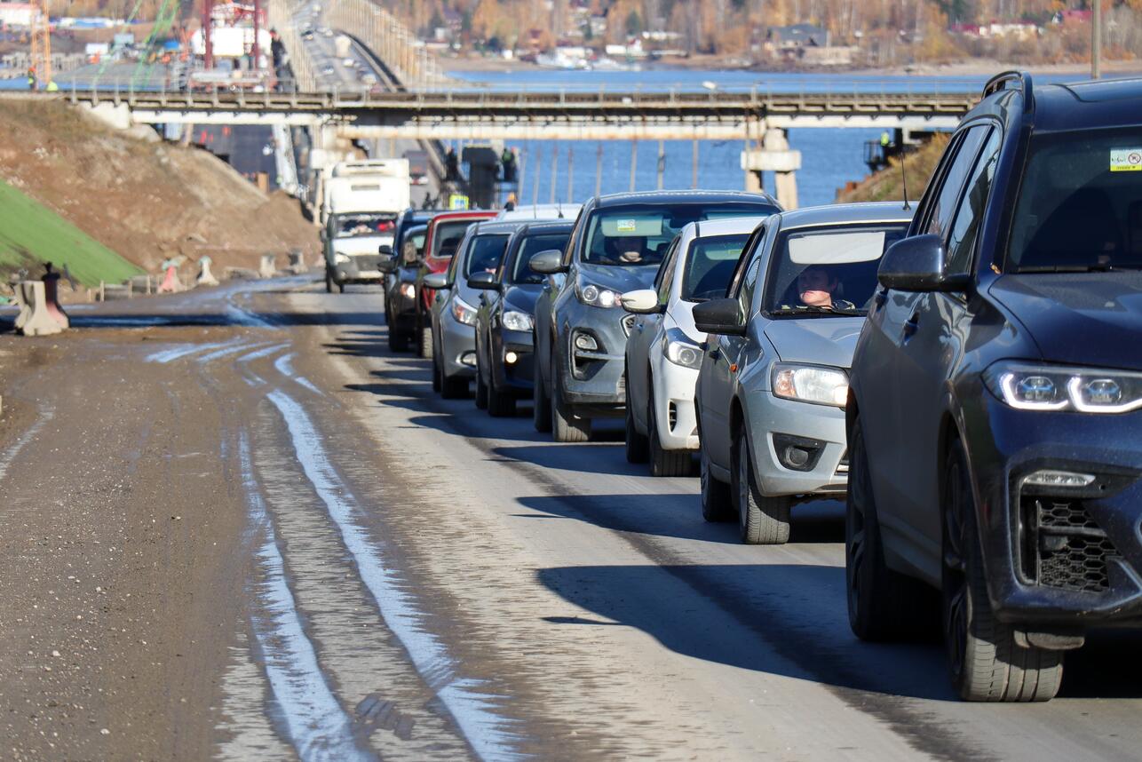
[[[151,272],[175,255],[187,271],[209,255],[218,275],[293,248],[313,262],[317,231],[295,199],[263,193],[207,152],[139,135],[61,102],[6,99],[0,178]]]

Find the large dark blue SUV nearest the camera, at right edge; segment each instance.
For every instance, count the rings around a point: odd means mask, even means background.
[[[878,279],[853,631],[922,626],[934,587],[959,695],[1047,700],[1089,628],[1142,626],[1142,80],[994,78]]]

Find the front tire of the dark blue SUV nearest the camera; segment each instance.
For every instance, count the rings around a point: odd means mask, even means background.
[[[1062,682],[1063,651],[1019,644],[1015,628],[991,609],[967,455],[958,440],[943,479],[943,631],[952,687],[967,701],[1048,701]]]

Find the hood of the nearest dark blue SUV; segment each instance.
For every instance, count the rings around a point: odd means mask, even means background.
[[[988,294],[1048,362],[1142,367],[1142,272],[1004,275]]]

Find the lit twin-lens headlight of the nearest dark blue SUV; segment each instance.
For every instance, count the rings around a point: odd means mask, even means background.
[[[1000,360],[983,383],[1018,410],[1129,412],[1142,408],[1142,374]]]

